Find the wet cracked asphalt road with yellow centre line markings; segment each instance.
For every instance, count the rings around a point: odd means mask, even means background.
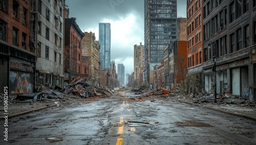
[[[49,144],[50,137],[63,139],[50,144],[256,144],[252,120],[171,99],[130,102],[131,97],[76,102],[9,119],[8,142],[1,135],[0,144]]]

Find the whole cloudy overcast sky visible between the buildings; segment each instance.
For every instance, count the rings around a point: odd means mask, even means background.
[[[186,17],[186,0],[177,0],[178,17]],[[76,17],[82,32],[99,39],[99,22],[111,23],[111,61],[123,63],[125,74],[133,70],[133,48],[144,45],[144,0],[66,0],[69,17]]]

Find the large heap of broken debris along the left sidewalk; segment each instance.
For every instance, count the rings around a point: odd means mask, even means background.
[[[105,98],[113,95],[113,93],[105,88],[94,87],[87,82],[82,82],[78,80],[77,82],[72,82],[72,84],[66,84],[63,88],[60,86],[42,86],[38,88],[36,93],[30,94],[18,94],[14,102],[31,102],[31,101],[59,101],[63,99],[81,99],[81,98],[91,98],[100,97]]]

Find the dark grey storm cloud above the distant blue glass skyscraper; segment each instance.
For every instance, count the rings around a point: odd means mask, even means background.
[[[82,28],[98,26],[103,18],[119,19],[129,13],[143,18],[144,13],[144,1],[138,0],[66,0],[66,5]]]

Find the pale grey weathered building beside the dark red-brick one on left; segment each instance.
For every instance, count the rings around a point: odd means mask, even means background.
[[[63,86],[65,1],[31,1],[31,45],[35,49],[36,84]]]

